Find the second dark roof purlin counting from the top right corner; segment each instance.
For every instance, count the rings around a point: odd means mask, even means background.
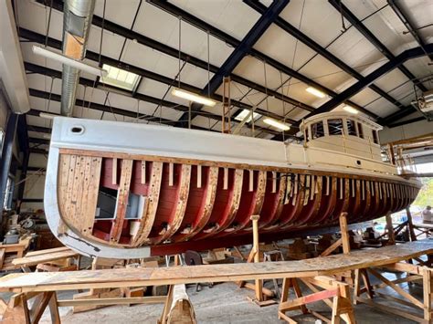
[[[372,43],[386,58],[393,60],[396,57],[391,51],[385,47],[382,42],[375,37],[375,35],[364,26],[364,24],[356,17],[354,14],[342,3],[342,0],[328,0],[328,2],[333,5],[335,10],[341,12],[344,18],[346,18],[370,43]],[[417,87],[422,91],[427,91],[428,89],[424,87],[422,83],[410,72],[405,66],[401,65],[398,67],[400,71],[407,76],[408,79],[414,81]]]

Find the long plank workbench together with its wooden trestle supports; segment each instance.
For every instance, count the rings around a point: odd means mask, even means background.
[[[293,323],[285,315],[286,310],[301,309],[302,312],[309,311],[305,305],[317,300],[323,300],[329,306],[333,306],[333,319],[331,322],[338,322],[340,316],[348,322],[354,322],[352,305],[348,296],[349,286],[338,282],[332,276],[345,271],[354,270],[356,274],[354,297],[356,302],[364,302],[375,306],[375,298],[385,296],[377,291],[388,286],[393,287],[400,295],[407,300],[399,299],[405,305],[413,304],[415,308],[422,308],[424,316],[413,315],[405,312],[396,315],[410,316],[418,322],[431,322],[431,298],[432,269],[429,262],[423,261],[420,256],[433,254],[433,241],[426,239],[421,241],[408,242],[404,245],[385,246],[374,250],[357,250],[343,255],[316,257],[308,260],[248,263],[248,264],[226,264],[207,265],[196,267],[164,267],[164,268],[120,268],[111,270],[83,270],[76,272],[37,272],[26,274],[10,274],[0,278],[0,290],[16,292],[17,295],[11,299],[5,310],[4,322],[32,323],[37,322],[38,317],[43,313],[44,308],[50,306],[53,322],[58,323],[58,306],[66,306],[61,300],[56,300],[56,292],[74,289],[90,289],[103,287],[146,287],[154,285],[176,285],[190,284],[202,281],[210,282],[237,282],[239,280],[264,280],[283,278],[282,302],[280,304],[280,318]],[[417,261],[417,265],[406,263]],[[380,277],[375,268],[386,268],[409,273],[407,277],[394,280],[394,282]],[[368,277],[369,272],[379,277],[384,282],[381,285],[372,286]],[[397,285],[401,282],[423,280],[424,300],[419,301],[413,298],[406,291]],[[301,296],[297,280],[304,280],[313,291],[311,295]],[[361,287],[361,280],[364,287]],[[292,287],[297,298],[288,300],[288,290]],[[324,290],[319,291],[319,288]],[[298,290],[298,292],[297,292]],[[363,297],[367,295],[367,298]],[[26,300],[36,298],[36,306],[30,310],[27,308]],[[333,300],[330,300],[333,298]],[[387,296],[386,298],[393,298]],[[161,299],[161,298],[160,298]],[[395,298],[393,298],[394,300]],[[163,300],[127,300],[125,303],[134,304],[164,302]],[[107,301],[97,301],[105,302]],[[117,304],[118,300],[113,301]],[[380,305],[380,304],[377,304]],[[422,306],[422,307],[421,307]],[[390,309],[390,308],[387,308]],[[382,307],[381,310],[384,310]],[[398,309],[397,309],[398,310]],[[312,311],[310,311],[312,313]],[[315,316],[321,314],[313,314]],[[17,319],[22,319],[18,321]],[[329,320],[328,320],[329,321]]]

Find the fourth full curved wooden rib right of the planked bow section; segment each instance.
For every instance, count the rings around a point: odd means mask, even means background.
[[[218,170],[219,168],[211,166],[209,167],[209,175],[207,179],[207,190],[205,198],[205,208],[200,216],[200,220],[197,225],[192,229],[191,233],[182,237],[181,241],[186,241],[194,235],[198,234],[203,228],[205,228],[209,217],[212,214],[212,208],[214,207],[216,197],[216,187],[218,183]]]

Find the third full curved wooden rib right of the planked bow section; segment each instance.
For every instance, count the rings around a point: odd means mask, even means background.
[[[186,204],[188,202],[189,184],[191,182],[191,165],[182,164],[181,180],[179,183],[179,193],[177,196],[177,204],[174,210],[173,220],[167,225],[167,229],[162,235],[151,238],[152,244],[159,244],[170,238],[182,225],[182,220],[185,216]]]

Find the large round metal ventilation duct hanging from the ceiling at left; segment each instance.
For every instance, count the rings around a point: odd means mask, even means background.
[[[83,59],[89,38],[95,0],[66,0],[63,9],[63,54]],[[79,69],[63,64],[61,114],[72,116],[79,84]]]

